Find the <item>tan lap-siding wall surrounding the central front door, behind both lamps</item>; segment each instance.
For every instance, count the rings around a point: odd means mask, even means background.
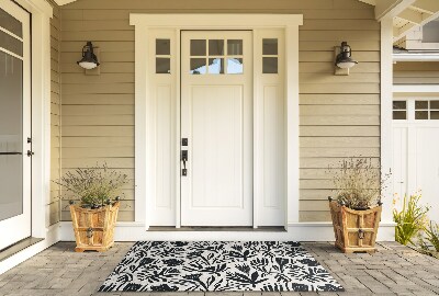
[[[106,161],[134,179],[134,26],[130,13],[297,13],[300,27],[302,221],[329,220],[328,164],[380,157],[380,24],[357,0],[79,0],[61,8],[63,172]],[[100,76],[76,61],[86,41],[100,47]],[[347,41],[360,64],[334,76],[334,46]],[[120,220],[134,219],[134,182]],[[64,208],[64,206],[63,206]],[[69,213],[63,210],[63,220]]]

